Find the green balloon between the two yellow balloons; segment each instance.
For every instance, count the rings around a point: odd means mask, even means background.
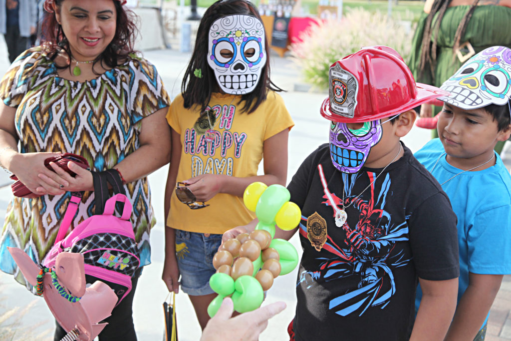
[[[259,197],[255,216],[265,224],[275,224],[275,216],[282,205],[289,201],[291,194],[282,185],[271,185]]]

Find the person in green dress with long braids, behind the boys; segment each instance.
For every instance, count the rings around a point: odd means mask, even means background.
[[[510,0],[427,0],[408,62],[415,80],[439,87],[476,53],[511,47],[510,7]],[[421,117],[432,116],[431,105],[422,109]],[[440,107],[434,114],[438,111]],[[432,123],[428,128],[436,127],[436,121]],[[501,149],[502,143],[497,144],[497,152]]]

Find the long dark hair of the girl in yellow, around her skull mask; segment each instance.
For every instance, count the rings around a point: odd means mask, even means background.
[[[261,16],[257,8],[246,0],[220,0],[211,5],[204,16],[200,20],[197,30],[197,39],[195,40],[195,48],[192,59],[188,64],[181,83],[181,93],[184,100],[184,107],[191,108],[199,105],[203,111],[210,102],[211,95],[219,86],[215,78],[215,74],[211,67],[207,64],[208,53],[208,34],[210,27],[215,20],[222,16],[232,14],[248,14],[261,20]],[[241,96],[241,101],[245,101],[243,111],[253,112],[257,107],[266,100],[268,90],[276,92],[283,91],[280,87],[273,84],[270,80],[270,55],[268,49],[268,39],[265,39],[264,49],[267,55],[266,64],[261,71],[261,78],[257,86],[248,94]],[[202,78],[195,77],[194,71],[201,70]]]

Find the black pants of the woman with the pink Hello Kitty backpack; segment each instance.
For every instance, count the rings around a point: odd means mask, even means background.
[[[112,314],[105,319],[108,324],[99,334],[100,341],[136,341],[135,326],[133,325],[133,297],[135,295],[136,283],[138,277],[142,272],[139,268],[133,279],[131,280],[131,291],[119,303],[119,305],[112,310]],[[55,323],[55,336],[54,341],[60,341],[67,333],[60,327],[58,322]]]

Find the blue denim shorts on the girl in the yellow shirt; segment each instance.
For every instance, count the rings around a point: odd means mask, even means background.
[[[215,274],[213,256],[222,243],[222,235],[176,230],[177,266],[181,289],[192,296],[214,293],[210,277]]]

